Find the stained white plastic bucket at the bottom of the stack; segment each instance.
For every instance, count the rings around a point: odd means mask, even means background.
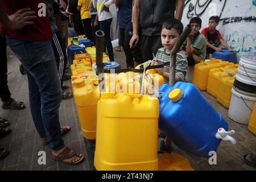
[[[256,101],[256,94],[232,88],[228,116],[233,121],[248,125]]]

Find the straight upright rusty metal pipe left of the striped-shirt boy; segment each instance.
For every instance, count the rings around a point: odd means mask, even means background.
[[[100,93],[105,90],[104,84],[104,64],[103,64],[103,52],[104,52],[104,31],[96,31],[96,65],[97,65],[97,76]]]

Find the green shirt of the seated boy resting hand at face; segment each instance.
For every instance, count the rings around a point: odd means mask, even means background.
[[[183,45],[187,46],[187,40],[183,43]],[[205,60],[206,56],[206,47],[207,43],[205,40],[205,36],[199,32],[196,38],[192,38],[191,40],[191,48],[195,48],[195,54],[201,57],[202,60]]]

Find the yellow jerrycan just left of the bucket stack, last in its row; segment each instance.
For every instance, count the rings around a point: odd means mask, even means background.
[[[231,75],[230,77],[221,78],[218,86],[217,101],[226,109],[229,109],[234,80],[235,77]]]

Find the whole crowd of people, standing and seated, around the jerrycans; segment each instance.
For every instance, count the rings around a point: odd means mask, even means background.
[[[46,16],[39,15],[40,3],[46,4]],[[183,32],[184,0],[9,0],[0,3],[2,108],[26,107],[22,101],[11,98],[7,86],[8,45],[27,69],[30,109],[41,142],[50,145],[52,158],[60,162],[79,164],[84,160],[82,154],[65,146],[61,136],[71,128],[61,127],[59,122],[61,100],[73,97],[64,91],[67,85],[63,84],[70,78],[65,75],[68,25],[73,24],[78,35],[85,35],[93,42],[95,32],[104,31],[105,47],[110,61],[114,61],[110,38],[113,16],[109,10],[112,4],[118,9],[119,44],[125,52],[127,68],[145,61],[151,65],[170,61],[171,50]],[[219,20],[218,16],[211,16],[209,27],[200,32],[202,20],[190,19],[192,31],[176,56],[176,82],[185,81],[188,67],[209,58],[214,51],[222,51],[220,44],[236,52],[216,29]],[[157,71],[167,83],[170,67],[166,65]],[[0,118],[0,137],[11,132],[6,128],[9,125],[6,119]],[[166,142],[165,148],[168,147],[170,151],[171,146]],[[7,150],[0,149],[0,159],[7,154]],[[255,164],[254,155],[246,155],[244,160]]]

